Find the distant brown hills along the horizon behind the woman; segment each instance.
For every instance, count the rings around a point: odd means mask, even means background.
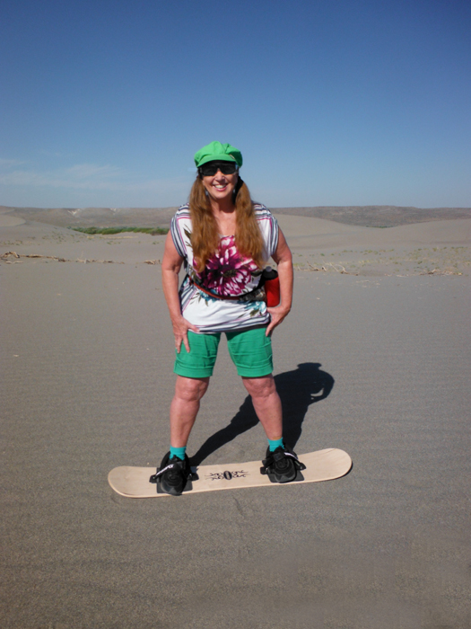
[[[471,208],[401,208],[397,206],[318,206],[314,208],[271,208],[274,214],[317,217],[347,225],[394,227],[432,220],[471,218]],[[139,226],[169,227],[177,208],[10,208],[0,206],[1,213],[13,214],[25,221],[37,221],[61,227],[68,226]]]

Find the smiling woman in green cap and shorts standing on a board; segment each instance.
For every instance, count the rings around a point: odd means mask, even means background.
[[[172,219],[162,261],[163,291],[176,346],[170,452],[154,476],[161,492],[179,495],[191,475],[186,447],[205,394],[221,332],[266,431],[264,471],[287,483],[299,468],[283,443],[282,406],[272,375],[270,334],[292,306],[292,254],[275,218],[254,204],[242,182],[242,155],[212,142],[195,155],[189,203]],[[281,303],[267,307],[259,288],[266,261],[278,265]],[[179,270],[187,275],[179,288]]]

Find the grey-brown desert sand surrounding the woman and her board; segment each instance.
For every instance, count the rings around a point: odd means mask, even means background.
[[[274,336],[286,435],[353,470],[166,501],[107,483],[168,445],[164,237],[1,224],[2,629],[471,626],[471,221],[279,219],[297,268]],[[223,346],[189,454],[265,444]]]

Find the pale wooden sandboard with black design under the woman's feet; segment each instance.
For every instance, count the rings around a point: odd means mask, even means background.
[[[249,463],[222,463],[199,465],[191,470],[196,476],[182,495],[198,492],[215,492],[222,489],[244,487],[288,487],[301,483],[332,481],[345,476],[352,467],[352,459],[344,450],[329,447],[326,450],[299,455],[306,469],[298,472],[292,483],[272,483],[268,476],[260,474],[261,461]],[[115,467],[108,474],[111,488],[126,498],[160,498],[167,493],[157,493],[157,485],[149,481],[155,467]]]

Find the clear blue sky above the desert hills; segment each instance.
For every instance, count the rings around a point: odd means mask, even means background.
[[[15,0],[0,204],[167,207],[217,139],[269,207],[471,206],[468,0]]]

